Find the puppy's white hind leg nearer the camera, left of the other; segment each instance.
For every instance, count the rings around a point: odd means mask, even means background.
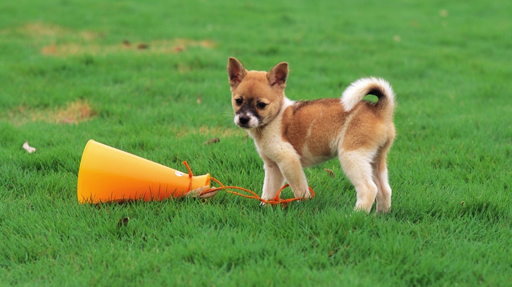
[[[377,185],[373,181],[372,161],[375,151],[339,150],[339,162],[343,172],[352,182],[357,193],[355,210],[364,210],[367,213],[372,209],[377,196]]]

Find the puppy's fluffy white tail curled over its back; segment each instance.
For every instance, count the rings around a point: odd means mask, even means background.
[[[376,95],[376,106],[393,113],[395,108],[395,93],[388,81],[381,78],[362,78],[348,86],[342,94],[342,104],[345,111],[351,111],[367,94]]]

